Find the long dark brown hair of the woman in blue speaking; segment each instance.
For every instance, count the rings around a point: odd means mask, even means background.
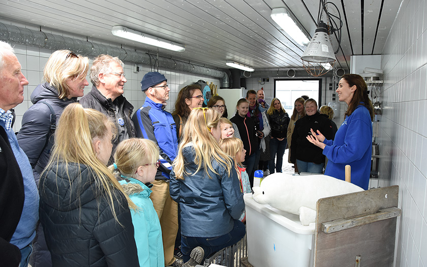
[[[356,85],[356,90],[350,100],[345,116],[350,116],[358,105],[363,105],[369,110],[371,121],[374,121],[374,106],[371,99],[369,99],[368,86],[364,79],[357,74],[345,74],[342,79],[346,80],[350,87]]]

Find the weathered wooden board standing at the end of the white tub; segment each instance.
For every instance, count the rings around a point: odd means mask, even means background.
[[[324,233],[322,223],[367,216],[397,207],[398,194],[399,187],[391,186],[319,199],[315,266],[355,266],[356,256],[360,256],[360,266],[392,266],[396,217],[333,233]]]

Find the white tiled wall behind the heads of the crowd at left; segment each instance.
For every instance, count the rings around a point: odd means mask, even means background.
[[[33,93],[34,88],[36,88],[36,86],[41,83],[43,79],[44,66],[53,51],[49,49],[41,49],[18,44],[12,45],[14,46],[15,54],[21,63],[22,72],[29,82],[29,84],[24,88],[24,102],[15,108],[16,121],[14,125],[14,131],[19,131],[21,128],[22,115],[28,109],[28,107],[32,105],[30,96]],[[90,60],[93,60],[93,58],[90,58]],[[89,67],[91,65],[92,64],[89,62]],[[139,83],[142,80],[144,74],[149,71],[151,71],[149,66],[142,66],[139,72],[134,72],[134,63],[125,62],[125,74],[128,81],[125,83],[124,96],[134,106],[134,110],[141,107],[144,103],[145,94],[141,92]],[[168,79],[171,92],[169,93],[169,100],[167,101],[166,110],[170,112],[174,109],[176,96],[178,95],[180,88],[196,82],[199,79],[202,79],[208,83],[213,82],[215,85],[217,85],[218,88],[221,86],[219,78],[161,68],[159,69],[159,72],[164,74]],[[89,82],[89,86],[86,86],[84,90],[85,94],[87,94],[92,88],[89,75],[87,75],[87,81]]]

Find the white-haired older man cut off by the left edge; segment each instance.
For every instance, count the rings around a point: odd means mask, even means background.
[[[10,111],[24,100],[27,84],[13,48],[0,41],[0,258],[5,266],[28,265],[39,220],[33,170],[19,147]]]

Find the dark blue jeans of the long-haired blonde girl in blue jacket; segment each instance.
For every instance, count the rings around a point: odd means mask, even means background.
[[[181,252],[182,260],[187,262],[190,260],[190,253],[195,247],[202,247],[204,250],[204,258],[211,256],[212,254],[226,248],[228,246],[234,245],[239,242],[243,236],[245,236],[246,228],[245,224],[239,220],[234,220],[233,229],[221,236],[214,236],[211,238],[197,238],[193,236],[181,235]]]

